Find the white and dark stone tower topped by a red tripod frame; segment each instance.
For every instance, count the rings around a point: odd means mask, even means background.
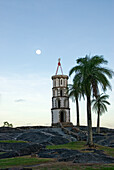
[[[59,67],[61,75],[57,75]],[[69,97],[67,94],[68,76],[63,75],[60,59],[56,74],[52,76],[52,126],[57,126],[60,122],[64,125],[70,124]]]

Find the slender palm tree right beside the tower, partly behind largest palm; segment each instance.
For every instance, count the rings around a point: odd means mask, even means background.
[[[73,84],[68,85],[68,95],[76,102],[76,113],[77,113],[77,126],[80,126],[79,121],[79,102],[78,99],[81,98],[81,89],[79,84],[74,81]]]

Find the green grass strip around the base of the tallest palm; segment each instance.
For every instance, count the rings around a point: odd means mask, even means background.
[[[86,145],[85,141],[71,142],[64,145],[51,145],[51,146],[47,146],[47,149],[73,149],[79,151],[82,150],[82,152],[89,152],[89,151],[83,151],[83,149],[88,149],[88,146]],[[114,148],[96,144],[95,149],[103,150],[107,155],[114,156]]]

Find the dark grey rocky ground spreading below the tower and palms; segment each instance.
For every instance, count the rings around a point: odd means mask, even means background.
[[[61,128],[52,127],[21,127],[0,128],[0,159],[23,155],[35,154],[40,158],[56,158],[57,161],[72,161],[74,163],[114,163],[113,157],[107,156],[102,150],[89,149],[89,152],[81,152],[69,149],[46,149],[46,145],[66,144],[77,140],[86,140],[87,127],[81,126],[81,131],[69,127],[65,133]],[[96,134],[93,128],[94,142],[114,147],[114,130],[101,128],[101,133]],[[78,136],[78,137],[76,137]],[[6,140],[26,141],[26,143],[9,143]],[[91,152],[90,152],[91,151]]]

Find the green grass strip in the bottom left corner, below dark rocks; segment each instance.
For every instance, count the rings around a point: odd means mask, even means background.
[[[0,159],[0,168],[9,168],[15,166],[26,166],[26,165],[37,165],[40,163],[46,163],[53,161],[54,159],[45,159],[45,158],[32,158],[30,156],[26,157],[16,157],[8,159]]]

